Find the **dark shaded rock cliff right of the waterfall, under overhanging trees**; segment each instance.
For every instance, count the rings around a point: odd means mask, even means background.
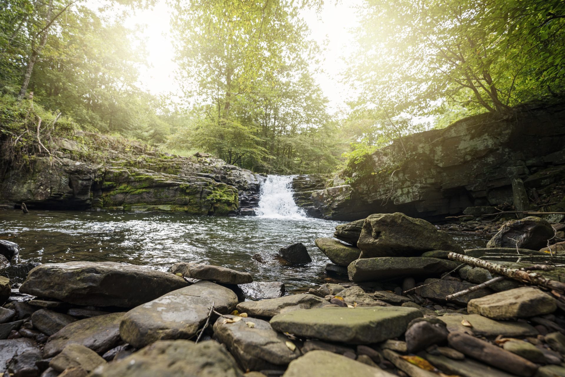
[[[340,220],[397,211],[440,220],[467,207],[512,204],[514,179],[535,200],[565,179],[565,103],[523,107],[507,119],[473,116],[404,137],[373,153],[350,179],[311,193],[303,205]],[[565,203],[553,206],[548,210]]]

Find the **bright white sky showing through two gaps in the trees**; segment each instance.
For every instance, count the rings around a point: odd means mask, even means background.
[[[336,5],[334,1],[326,1],[319,15],[315,11],[305,11],[303,14],[312,31],[312,38],[321,47],[325,47],[320,57],[324,73],[316,75],[316,80],[330,101],[331,112],[345,109],[346,106],[346,85],[339,82],[339,77],[345,69],[342,58],[351,53],[353,38],[350,29],[357,24],[354,6],[360,2],[361,0],[347,0]],[[153,94],[172,92],[180,95],[175,83],[176,64],[172,61],[169,12],[165,1],[159,0],[155,7],[137,11],[125,25],[131,28],[146,25],[142,37],[146,38],[146,50],[149,54],[147,60],[151,63],[151,68],[142,72],[142,86]]]

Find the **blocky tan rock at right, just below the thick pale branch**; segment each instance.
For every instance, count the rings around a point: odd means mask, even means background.
[[[553,313],[555,299],[534,287],[520,287],[469,301],[467,311],[492,319],[527,318]]]

